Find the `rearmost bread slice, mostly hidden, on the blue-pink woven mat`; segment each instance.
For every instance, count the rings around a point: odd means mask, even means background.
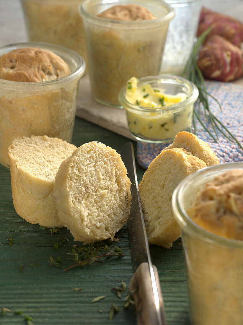
[[[193,156],[196,156],[202,161],[206,162],[207,166],[220,164],[216,154],[213,152],[210,146],[193,133],[185,131],[177,133],[173,143],[162,151],[172,148],[183,148],[191,152]]]

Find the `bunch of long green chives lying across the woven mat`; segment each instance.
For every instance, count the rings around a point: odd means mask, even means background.
[[[202,125],[202,127],[205,129],[205,131],[213,138],[215,142],[218,142],[218,134],[217,131],[219,131],[223,136],[225,136],[230,142],[236,142],[237,145],[243,149],[242,145],[239,143],[239,141],[236,139],[236,137],[228,130],[228,128],[211,112],[210,106],[209,106],[209,100],[208,96],[211,97],[213,100],[216,101],[216,103],[219,105],[220,110],[222,111],[222,107],[219,103],[219,101],[213,97],[211,94],[209,94],[206,90],[204,77],[202,75],[201,70],[198,67],[197,59],[198,59],[198,52],[203,44],[205,37],[208,35],[208,33],[211,31],[211,28],[208,28],[205,32],[203,32],[197,39],[197,42],[195,43],[192,53],[190,54],[190,57],[185,65],[184,71],[182,72],[182,76],[185,76],[188,80],[193,82],[198,87],[199,92],[199,105],[198,110],[194,107],[193,111],[193,127],[194,127],[194,133],[197,134],[197,127],[196,127],[196,121],[197,118],[199,123]],[[203,123],[203,121],[200,118],[200,108],[201,106],[204,109],[204,114],[207,119],[207,121],[210,121],[213,133],[210,132],[207,128],[207,126]]]

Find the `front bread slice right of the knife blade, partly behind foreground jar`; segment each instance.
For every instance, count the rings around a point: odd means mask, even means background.
[[[169,248],[181,236],[171,208],[173,191],[187,175],[206,166],[181,148],[163,150],[150,163],[139,184],[149,244]]]

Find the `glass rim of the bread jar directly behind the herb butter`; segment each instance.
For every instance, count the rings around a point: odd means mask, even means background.
[[[171,19],[173,19],[175,12],[174,9],[165,1],[161,0],[152,0],[151,2],[154,2],[158,5],[158,7],[166,8],[167,9],[167,14],[164,16],[157,18],[157,19],[150,19],[150,20],[131,20],[131,21],[124,21],[124,20],[115,20],[115,19],[107,19],[103,17],[97,17],[91,13],[88,12],[88,10],[85,9],[85,6],[87,6],[90,3],[94,2],[101,2],[103,3],[104,0],[85,0],[83,1],[80,6],[79,6],[79,14],[83,19],[89,19],[99,25],[112,25],[116,28],[137,28],[140,29],[141,27],[143,28],[150,28],[151,26],[155,25],[160,25],[162,23],[169,22]],[[113,4],[113,5],[118,5],[118,4],[127,4],[127,1],[121,1],[121,0],[105,0],[105,4]],[[138,4],[141,5],[143,4],[143,1],[141,0],[132,0],[128,2],[129,4]]]

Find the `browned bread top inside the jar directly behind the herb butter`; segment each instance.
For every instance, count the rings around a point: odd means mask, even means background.
[[[136,4],[112,6],[97,17],[123,21],[157,19],[149,10]]]

